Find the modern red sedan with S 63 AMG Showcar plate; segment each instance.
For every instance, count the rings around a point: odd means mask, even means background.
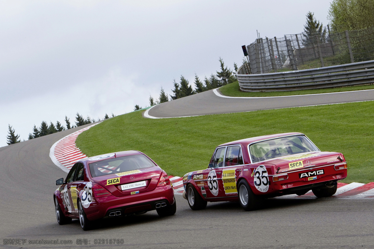
[[[160,216],[176,211],[168,175],[144,153],[116,152],[77,161],[53,199],[58,223],[79,219],[83,230],[104,217],[123,217],[156,209]]]

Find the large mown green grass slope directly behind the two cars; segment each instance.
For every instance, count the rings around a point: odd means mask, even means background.
[[[284,132],[306,134],[322,151],[342,152],[346,183],[374,181],[374,102],[147,119],[131,112],[105,120],[77,138],[88,156],[140,150],[169,175],[208,167],[216,146]]]

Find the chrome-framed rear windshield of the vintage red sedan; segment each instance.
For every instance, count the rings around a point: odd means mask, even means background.
[[[306,136],[275,138],[249,146],[252,162],[313,151],[319,150]]]

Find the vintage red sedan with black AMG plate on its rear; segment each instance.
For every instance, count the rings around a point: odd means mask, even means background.
[[[343,154],[321,152],[302,133],[283,133],[237,140],[215,149],[208,169],[183,177],[193,210],[207,202],[236,201],[246,211],[261,199],[312,190],[317,197],[335,194],[337,181],[347,177]]]

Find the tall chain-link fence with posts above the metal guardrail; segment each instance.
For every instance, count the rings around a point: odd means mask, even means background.
[[[247,46],[249,65],[238,74],[264,74],[374,60],[374,27],[258,38]]]

